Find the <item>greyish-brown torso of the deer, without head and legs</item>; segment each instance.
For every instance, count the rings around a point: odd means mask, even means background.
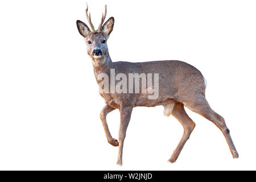
[[[133,107],[152,107],[166,105],[170,100],[186,102],[195,93],[205,95],[205,81],[201,72],[192,65],[182,61],[166,60],[130,63],[125,61],[112,62],[110,60],[105,63],[105,66],[104,68],[94,68],[94,75],[98,83],[101,82],[101,80],[97,79],[98,74],[106,73],[110,78],[110,69],[114,69],[115,74],[124,73],[127,77],[129,77],[130,73],[159,74],[159,97],[155,100],[148,100],[148,93],[102,93],[101,96],[104,97],[106,103],[111,103],[115,109],[118,109],[118,105],[123,103]],[[152,85],[154,85],[154,80],[152,81]]]

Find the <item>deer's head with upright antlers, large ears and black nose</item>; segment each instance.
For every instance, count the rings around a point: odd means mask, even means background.
[[[88,19],[91,30],[84,22],[81,22],[80,20],[77,20],[76,22],[77,28],[79,33],[85,39],[88,55],[92,58],[93,61],[100,63],[105,61],[105,56],[108,54],[107,40],[114,27],[114,18],[111,17],[104,23],[106,18],[105,5],[105,14],[102,14],[101,23],[98,26],[98,29],[94,30],[94,26],[90,19],[90,13],[88,16],[88,6],[85,9],[85,15]]]

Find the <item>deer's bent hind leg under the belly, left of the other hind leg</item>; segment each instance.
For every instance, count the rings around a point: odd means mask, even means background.
[[[190,134],[192,133],[193,129],[195,128],[196,124],[192,121],[191,118],[188,117],[184,105],[180,102],[177,102],[172,110],[172,115],[181,123],[184,128],[183,136],[176,147],[174,153],[172,154],[171,158],[168,162],[174,163],[180,155],[184,144],[189,139]]]

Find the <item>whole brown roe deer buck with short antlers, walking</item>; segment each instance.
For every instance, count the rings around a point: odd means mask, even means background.
[[[100,92],[100,95],[104,98],[106,103],[101,110],[100,119],[108,143],[112,144],[112,146],[118,146],[117,164],[122,166],[122,153],[126,130],[130,122],[133,108],[138,106],[154,107],[162,105],[164,107],[164,115],[167,117],[170,115],[174,116],[183,126],[183,135],[168,162],[176,162],[184,144],[187,142],[196,126],[195,122],[189,118],[184,107],[187,107],[189,110],[200,114],[214,123],[224,135],[233,158],[238,158],[238,152],[234,146],[224,118],[212,110],[205,98],[205,89],[207,86],[206,80],[197,68],[184,61],[177,60],[147,61],[141,63],[131,63],[126,61],[113,62],[109,55],[107,42],[110,33],[113,31],[114,18],[110,17],[104,23],[106,18],[105,5],[105,12],[102,13],[100,25],[97,30],[95,30],[90,18],[90,13],[88,15],[88,5],[85,9],[85,15],[91,29],[80,20],[77,20],[76,24],[79,33],[85,40],[87,53],[92,60],[94,76],[100,87],[102,86],[101,73],[110,76],[112,69],[115,70],[115,73],[122,73],[126,76],[130,73],[159,74],[159,95],[153,100],[148,99],[147,96],[150,94],[148,92]],[[155,80],[152,82],[155,82]],[[120,113],[118,140],[114,139],[110,134],[108,123],[106,121],[108,113],[115,109],[118,109]]]

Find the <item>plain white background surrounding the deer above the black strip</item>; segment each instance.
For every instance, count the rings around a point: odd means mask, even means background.
[[[0,169],[256,169],[255,1],[89,1],[94,26],[104,5],[115,25],[113,61],[182,60],[208,81],[240,154],[221,131],[188,110],[196,128],[176,163],[167,163],[183,127],[163,107],[136,107],[123,166],[100,121],[105,105],[76,20],[85,1],[0,2]],[[119,112],[107,117],[118,138]]]

